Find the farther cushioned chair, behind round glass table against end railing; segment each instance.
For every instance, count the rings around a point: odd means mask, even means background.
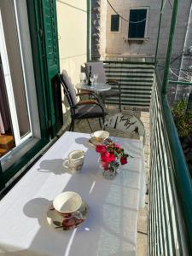
[[[98,75],[98,79],[97,79],[98,83],[112,85],[112,90],[102,91],[100,93],[100,96],[102,97],[103,102],[105,102],[105,100],[109,97],[118,96],[119,110],[121,112],[121,91],[120,91],[120,85],[118,81],[115,79],[108,79],[108,80],[106,79],[105,69],[103,67],[102,61],[96,61],[96,62],[89,61],[89,62],[85,62],[84,65],[85,65],[85,73],[87,77],[89,77],[90,67],[91,67],[91,73]]]

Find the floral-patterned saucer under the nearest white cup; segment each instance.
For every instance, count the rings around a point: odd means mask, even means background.
[[[69,219],[62,217],[53,206],[49,207],[47,212],[47,221],[55,230],[73,230],[82,224],[86,218],[88,218],[88,205],[84,201],[79,211]]]

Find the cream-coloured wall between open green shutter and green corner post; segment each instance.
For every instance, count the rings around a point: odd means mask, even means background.
[[[79,83],[80,67],[87,59],[87,1],[57,0],[60,67],[66,69],[73,84]],[[64,99],[64,125],[69,119],[69,108]]]

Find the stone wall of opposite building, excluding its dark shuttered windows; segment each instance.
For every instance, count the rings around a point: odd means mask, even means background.
[[[104,1],[104,0],[102,0]],[[106,23],[106,59],[113,60],[123,57],[126,60],[138,61],[154,61],[155,49],[158,37],[158,27],[160,21],[160,0],[110,0],[107,3],[107,23]],[[160,76],[163,78],[167,45],[170,33],[170,25],[172,19],[172,5],[174,1],[165,1],[162,11],[162,19],[160,26],[160,41],[157,54],[157,60],[160,66]],[[130,9],[148,9],[146,20],[146,34],[143,40],[133,40],[128,38],[129,30],[129,14]],[[180,69],[187,70],[192,66],[192,58],[189,55],[189,46],[192,45],[192,18],[191,18],[191,0],[179,1],[177,12],[177,24],[174,34],[174,42],[172,46],[172,61],[171,61],[171,79],[177,80],[181,74]],[[125,20],[120,19],[119,32],[111,32],[111,15],[115,11]],[[190,16],[189,16],[190,15]],[[101,21],[103,16],[101,15]],[[104,28],[102,27],[102,32]],[[187,32],[187,35],[186,35]],[[192,51],[192,49],[191,49]],[[172,103],[175,99],[180,99],[183,96],[189,95],[189,87],[170,85],[168,98]]]

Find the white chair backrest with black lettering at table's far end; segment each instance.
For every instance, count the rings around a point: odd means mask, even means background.
[[[110,128],[123,131],[126,135],[143,137],[143,144],[145,143],[143,122],[133,113],[116,113],[113,116],[106,117],[103,129],[108,131]]]

